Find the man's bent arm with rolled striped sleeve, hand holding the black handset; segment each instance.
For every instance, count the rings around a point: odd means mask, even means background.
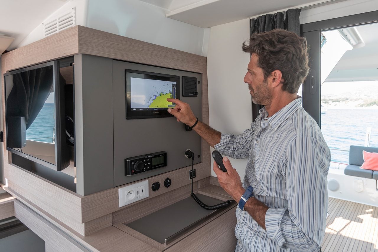
[[[286,150],[287,208],[269,208],[250,198],[244,209],[279,246],[294,250],[319,251],[327,214],[327,171],[330,152],[324,142],[304,136]],[[223,173],[214,162],[220,185],[239,202],[245,192],[236,170],[225,157]]]

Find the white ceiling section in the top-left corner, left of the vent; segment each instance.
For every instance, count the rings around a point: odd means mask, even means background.
[[[40,23],[65,4],[65,0],[1,0],[0,33],[15,40],[13,50]]]

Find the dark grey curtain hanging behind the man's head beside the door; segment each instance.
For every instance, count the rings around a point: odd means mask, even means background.
[[[266,14],[259,16],[257,19],[251,19],[249,35],[254,33],[263,33],[264,31],[271,31],[279,28],[283,30],[293,31],[299,35],[299,14],[300,9],[288,9],[286,15],[283,12],[276,14]],[[253,121],[259,115],[259,110],[263,106],[252,103],[252,118]]]

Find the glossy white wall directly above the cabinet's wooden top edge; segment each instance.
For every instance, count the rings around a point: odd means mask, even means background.
[[[165,16],[167,12],[136,0],[89,0],[87,26],[203,55],[205,29],[169,19]]]

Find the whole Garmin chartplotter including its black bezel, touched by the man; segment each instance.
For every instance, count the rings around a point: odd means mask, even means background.
[[[178,98],[180,77],[161,73],[126,70],[126,118],[171,117],[168,108]]]

